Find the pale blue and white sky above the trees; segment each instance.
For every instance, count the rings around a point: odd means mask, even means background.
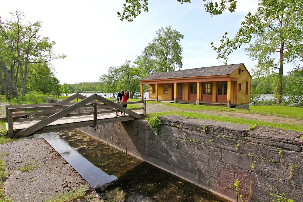
[[[54,53],[67,58],[51,62],[60,84],[98,82],[110,66],[121,66],[125,60],[134,61],[152,42],[157,29],[172,26],[184,35],[181,39],[182,69],[224,65],[216,59],[222,35],[232,38],[248,12],[258,8],[257,0],[238,0],[234,13],[211,16],[202,0],[181,4],[177,0],[149,0],[149,12],[142,11],[133,22],[118,18],[125,0],[11,0],[2,1],[2,20],[11,19],[9,12],[20,11],[25,22],[42,21],[41,35],[55,41]],[[228,64],[244,63],[251,69],[256,65],[242,49],[233,52]],[[286,64],[284,74],[291,71]],[[178,70],[178,69],[176,69]]]

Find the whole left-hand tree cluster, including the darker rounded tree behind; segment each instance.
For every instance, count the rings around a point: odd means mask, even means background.
[[[22,96],[28,89],[44,93],[58,88],[58,79],[49,61],[65,55],[53,53],[54,41],[40,35],[42,22],[25,22],[23,13],[11,13],[12,19],[0,17],[0,84],[7,99]]]

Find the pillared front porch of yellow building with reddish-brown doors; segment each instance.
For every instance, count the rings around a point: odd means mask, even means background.
[[[227,107],[236,105],[237,78],[186,79],[186,82],[182,79],[181,81],[141,82],[141,99],[143,100],[143,85],[148,84],[149,100]]]

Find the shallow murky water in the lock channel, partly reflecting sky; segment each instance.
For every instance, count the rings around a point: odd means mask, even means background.
[[[228,201],[78,130],[45,138],[107,201]]]

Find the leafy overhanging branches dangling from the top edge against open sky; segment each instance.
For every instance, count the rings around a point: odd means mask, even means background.
[[[123,4],[123,12],[117,12],[118,17],[121,21],[126,19],[128,22],[132,22],[135,17],[137,17],[141,10],[148,12],[148,0],[125,0]],[[181,4],[190,3],[190,0],[177,0]],[[211,15],[221,14],[223,11],[228,10],[229,12],[234,12],[236,8],[236,0],[220,0],[218,2],[212,2],[211,0],[203,0],[206,2],[204,4],[206,12]]]

